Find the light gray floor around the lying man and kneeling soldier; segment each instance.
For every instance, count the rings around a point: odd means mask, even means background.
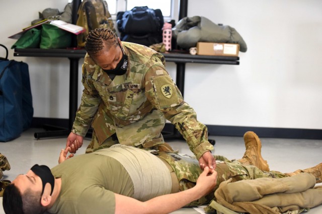
[[[0,142],[0,153],[7,156],[11,170],[4,171],[4,179],[13,180],[20,173],[27,172],[33,164],[55,166],[61,148],[65,147],[65,138],[40,139],[33,134],[38,129],[29,129],[19,138],[10,142]],[[228,159],[240,158],[245,152],[243,137],[210,136],[216,140],[215,153]],[[322,140],[261,138],[262,155],[271,170],[290,172],[305,169],[322,162]],[[89,139],[84,140],[84,147],[77,154],[85,152]],[[180,153],[192,154],[184,141],[169,142]],[[0,197],[2,203],[2,197]],[[3,214],[0,206],[0,214]],[[173,213],[202,213],[193,208],[183,208]],[[311,214],[322,213],[322,205],[310,210]]]

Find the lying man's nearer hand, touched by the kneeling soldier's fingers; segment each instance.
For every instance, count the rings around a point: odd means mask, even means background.
[[[199,175],[197,179],[196,187],[200,188],[203,195],[208,194],[217,184],[217,171],[210,170],[208,166],[205,166],[203,172]]]

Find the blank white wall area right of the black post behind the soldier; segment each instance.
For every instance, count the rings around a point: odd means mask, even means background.
[[[322,129],[321,11],[319,0],[189,1],[188,17],[229,25],[248,45],[239,66],[187,66],[185,100],[199,120]]]

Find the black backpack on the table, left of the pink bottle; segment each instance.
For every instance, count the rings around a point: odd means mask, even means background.
[[[164,19],[160,9],[144,6],[118,12],[116,24],[122,41],[146,46],[162,42]]]

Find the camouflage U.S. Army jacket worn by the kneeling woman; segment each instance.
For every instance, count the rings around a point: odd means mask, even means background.
[[[85,56],[85,89],[72,132],[85,136],[92,124],[99,143],[116,133],[120,144],[149,148],[164,143],[161,131],[168,119],[198,159],[212,150],[207,127],[183,100],[166,71],[164,56],[133,43],[122,46],[128,56],[127,72],[113,80]]]

